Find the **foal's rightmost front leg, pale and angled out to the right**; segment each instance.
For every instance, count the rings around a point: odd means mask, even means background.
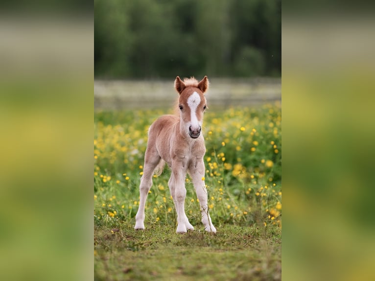
[[[193,185],[199,204],[201,206],[202,223],[205,226],[205,230],[208,232],[216,233],[216,229],[211,222],[211,216],[208,208],[207,189],[205,185],[205,164],[202,159],[196,159],[189,165],[189,174],[193,180]]]

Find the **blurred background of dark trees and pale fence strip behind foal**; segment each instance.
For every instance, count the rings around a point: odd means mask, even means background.
[[[95,109],[165,105],[177,75],[208,75],[211,104],[281,99],[280,0],[95,0],[94,13]]]

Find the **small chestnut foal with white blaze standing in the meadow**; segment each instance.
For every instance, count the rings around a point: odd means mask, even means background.
[[[180,94],[178,107],[180,116],[164,115],[151,124],[148,131],[147,149],[144,155],[143,175],[140,185],[140,205],[136,215],[136,230],[144,229],[144,206],[152,186],[154,171],[160,174],[164,164],[171,169],[168,181],[170,193],[177,211],[177,233],[194,230],[186,216],[184,203],[186,197],[185,176],[188,172],[199,199],[202,223],[205,230],[216,233],[212,225],[207,205],[207,190],[204,175],[203,156],[206,153],[202,131],[203,113],[207,108],[204,93],[209,88],[205,76],[200,82],[194,78],[179,76],[174,87]]]

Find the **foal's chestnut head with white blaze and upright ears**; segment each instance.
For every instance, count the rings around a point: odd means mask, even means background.
[[[195,78],[184,78],[182,81],[177,76],[174,87],[180,94],[178,107],[180,108],[181,128],[190,138],[196,139],[202,131],[203,113],[207,108],[204,93],[209,88],[209,79],[205,76],[200,82]]]

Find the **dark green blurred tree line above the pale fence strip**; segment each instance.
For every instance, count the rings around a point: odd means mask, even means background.
[[[100,78],[281,75],[281,0],[94,0]]]

